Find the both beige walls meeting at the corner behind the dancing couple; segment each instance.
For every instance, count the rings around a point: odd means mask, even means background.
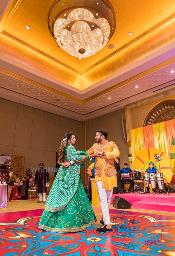
[[[75,121],[39,109],[0,98],[0,153],[25,156],[26,168],[55,168],[56,151],[63,135],[74,132],[77,150],[87,150],[94,142],[95,130],[105,128],[108,140],[114,140],[120,150],[121,167],[128,162],[128,147],[122,141],[119,118],[124,108],[85,122]],[[81,170],[81,179],[87,184],[87,166]],[[54,173],[50,173],[51,179]]]

